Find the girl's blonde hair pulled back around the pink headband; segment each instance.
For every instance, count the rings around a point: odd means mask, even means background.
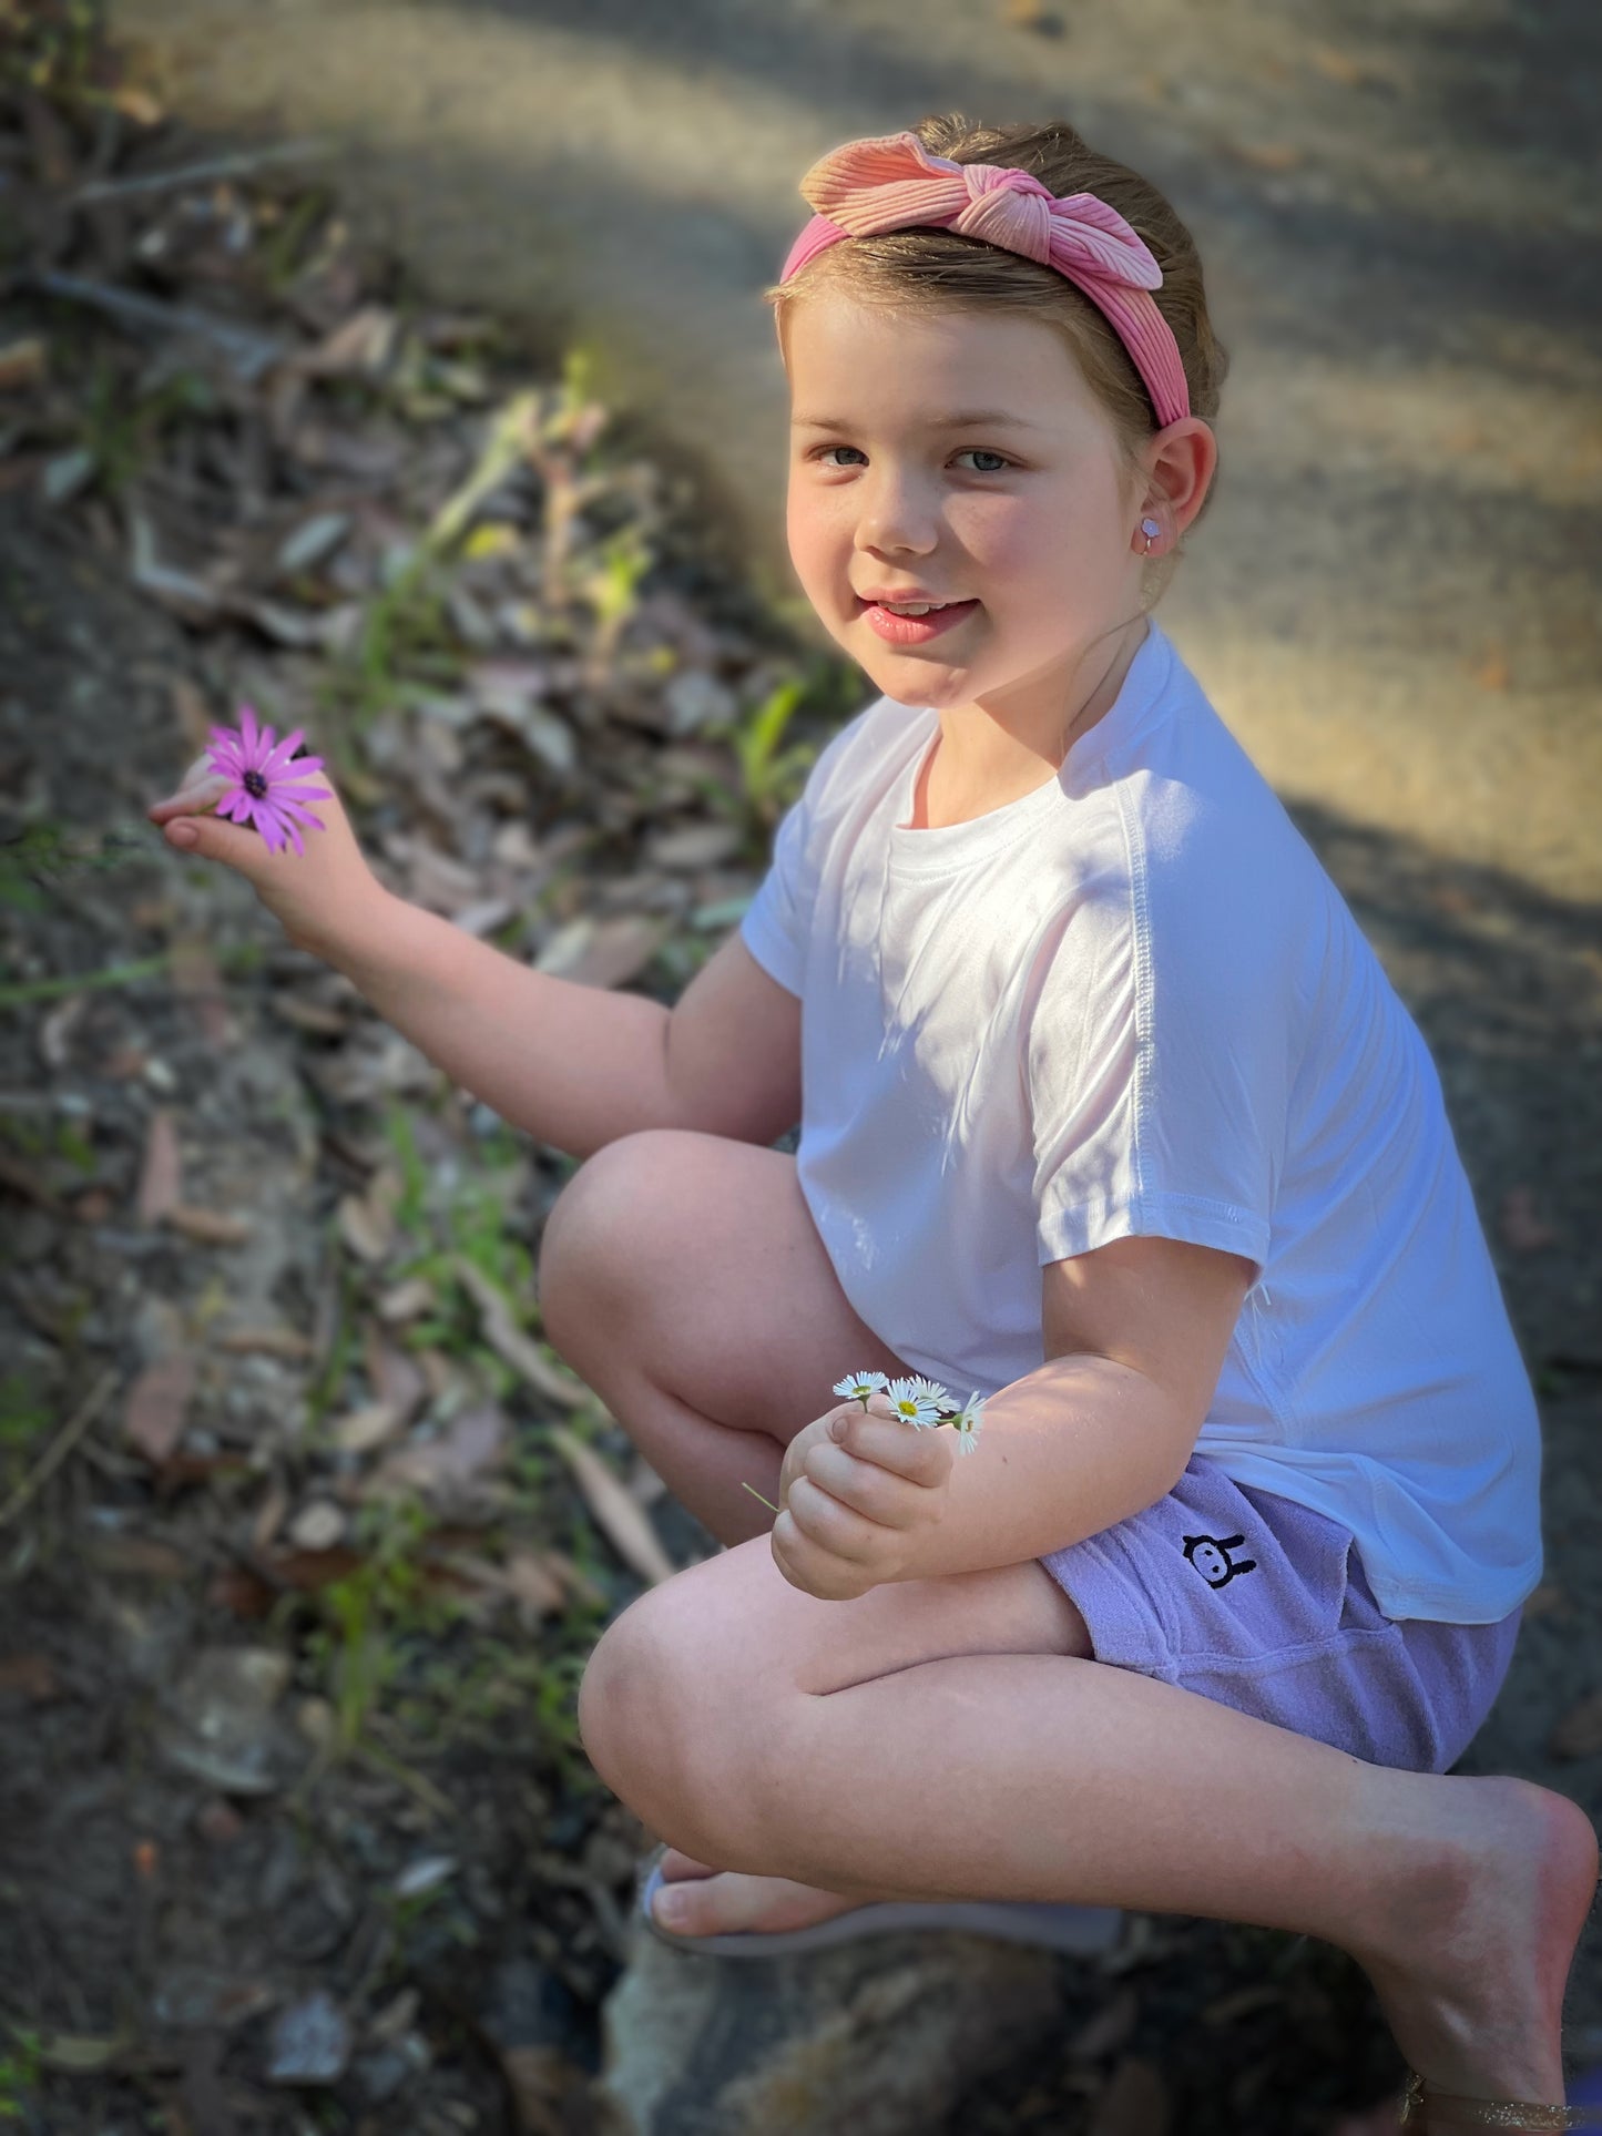
[[[976,126],[961,113],[923,117],[910,128],[936,156],[951,162],[1012,164],[1038,177],[1053,194],[1094,192],[1115,207],[1156,254],[1162,288],[1151,290],[1173,329],[1190,387],[1190,412],[1211,421],[1228,372],[1228,350],[1207,316],[1196,239],[1162,192],[1138,171],[1094,150],[1066,120],[1047,126]],[[891,312],[959,310],[993,316],[998,310],[1038,318],[1059,333],[1085,384],[1106,412],[1124,478],[1141,478],[1141,446],[1156,434],[1151,395],[1106,316],[1055,267],[1004,252],[980,237],[955,231],[882,231],[844,237],[812,258],[790,282],[763,290],[773,305],[780,344],[790,305],[803,297],[842,295]],[[1213,502],[1211,483],[1198,525]],[[1168,570],[1179,549],[1168,551]],[[1153,564],[1153,568],[1158,568]]]

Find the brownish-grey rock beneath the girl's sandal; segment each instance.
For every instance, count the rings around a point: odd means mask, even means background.
[[[634,1927],[598,2102],[630,2136],[908,2136],[1062,2023],[1059,1957],[921,1931],[713,1959]]]

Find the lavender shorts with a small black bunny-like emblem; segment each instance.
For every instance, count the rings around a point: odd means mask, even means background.
[[[1386,1617],[1339,1521],[1203,1455],[1168,1497],[1040,1564],[1098,1662],[1412,1773],[1446,1773],[1470,1747],[1523,1617]]]

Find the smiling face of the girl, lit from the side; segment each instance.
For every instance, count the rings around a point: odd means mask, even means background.
[[[884,696],[980,705],[1049,750],[1121,628],[1145,634],[1145,496],[1062,340],[824,297],[790,312],[788,376],[790,557],[827,630]],[[865,594],[974,607],[889,643]]]

